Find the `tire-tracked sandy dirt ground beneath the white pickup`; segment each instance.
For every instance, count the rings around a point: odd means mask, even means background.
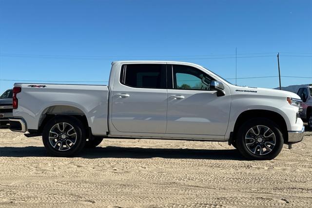
[[[227,143],[107,139],[74,158],[0,130],[0,207],[312,207],[312,132],[272,161]]]

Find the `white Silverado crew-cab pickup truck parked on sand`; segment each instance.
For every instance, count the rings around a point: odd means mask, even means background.
[[[56,156],[103,138],[228,141],[249,158],[271,160],[300,142],[294,93],[235,86],[186,62],[113,62],[108,86],[15,83],[10,129],[42,134]]]

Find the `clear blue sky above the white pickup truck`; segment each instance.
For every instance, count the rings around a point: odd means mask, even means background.
[[[105,84],[117,60],[195,62],[235,78],[235,47],[237,78],[277,76],[280,52],[282,76],[310,77],[283,86],[312,83],[312,0],[0,0],[0,93],[15,83],[4,80]]]

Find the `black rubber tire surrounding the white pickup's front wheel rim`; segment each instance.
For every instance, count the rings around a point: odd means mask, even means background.
[[[265,126],[271,128],[271,130],[275,134],[276,144],[275,144],[273,150],[266,155],[261,155],[261,156],[255,155],[245,145],[246,133],[249,131],[250,128],[252,128],[256,125],[265,125]],[[241,127],[238,130],[236,144],[237,144],[237,149],[239,150],[239,152],[248,159],[272,160],[282,150],[283,144],[284,144],[284,139],[283,139],[283,135],[282,135],[281,131],[279,130],[279,126],[276,125],[274,122],[272,122],[271,120],[265,119],[265,118],[254,118],[254,119],[251,119],[251,120],[245,122],[243,125],[241,125]]]

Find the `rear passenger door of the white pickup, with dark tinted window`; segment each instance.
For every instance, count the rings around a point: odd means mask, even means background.
[[[119,78],[112,91],[111,117],[117,131],[165,133],[166,64],[123,64]]]

